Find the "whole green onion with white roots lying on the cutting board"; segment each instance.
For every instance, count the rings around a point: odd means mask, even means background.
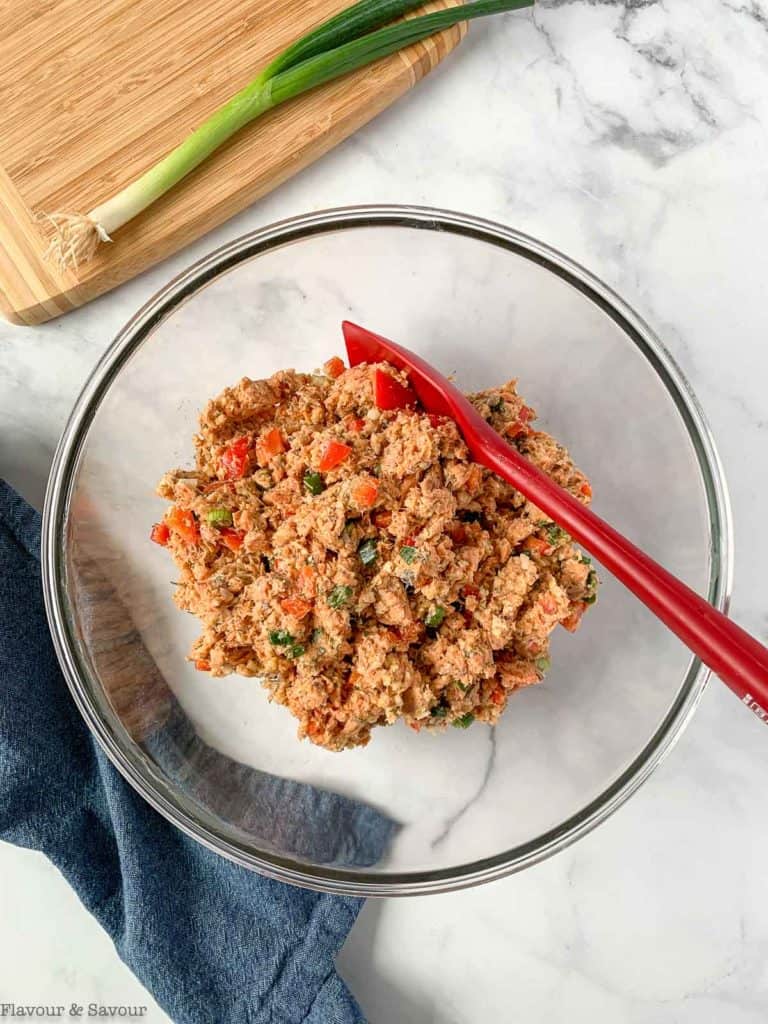
[[[529,7],[532,0],[473,0],[379,28],[418,6],[410,0],[362,0],[301,37],[215,111],[167,157],[86,214],[54,213],[48,255],[77,269],[102,242],[173,188],[241,128],[325,82],[364,68],[460,22]],[[371,30],[376,31],[371,31]]]

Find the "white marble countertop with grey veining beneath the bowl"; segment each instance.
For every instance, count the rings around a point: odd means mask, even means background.
[[[53,446],[118,328],[248,228],[365,202],[505,221],[651,324],[710,419],[734,507],[733,614],[768,640],[768,2],[550,0],[444,67],[213,237],[46,327],[0,325],[0,475],[40,506]],[[768,732],[711,684],[606,824],[478,890],[369,902],[340,968],[376,1024],[762,1024]],[[148,1004],[57,872],[0,847],[0,1002]]]

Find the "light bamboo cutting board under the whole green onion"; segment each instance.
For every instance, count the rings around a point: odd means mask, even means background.
[[[0,0],[0,311],[40,324],[144,270],[366,124],[464,33],[449,30],[247,127],[77,276],[46,259],[46,212],[103,202],[347,3]]]

